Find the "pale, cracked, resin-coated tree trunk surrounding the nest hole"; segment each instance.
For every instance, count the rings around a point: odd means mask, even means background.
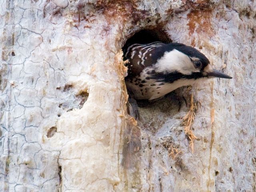
[[[0,15],[0,191],[255,191],[255,1],[2,0]],[[194,153],[184,102],[140,108],[139,128],[126,113],[119,52],[155,26],[233,76],[176,91],[198,104]]]

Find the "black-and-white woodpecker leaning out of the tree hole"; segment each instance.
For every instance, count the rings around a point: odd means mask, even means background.
[[[126,87],[136,100],[160,98],[200,78],[232,78],[212,69],[204,54],[180,43],[132,44],[124,49],[124,60],[128,60]]]

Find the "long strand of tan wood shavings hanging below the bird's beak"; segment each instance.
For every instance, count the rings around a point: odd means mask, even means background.
[[[197,109],[196,103],[193,100],[193,94],[191,94],[190,110],[188,111],[186,116],[184,116],[182,125],[185,125],[184,130],[185,130],[186,136],[188,136],[190,140],[189,146],[191,147],[192,153],[194,152],[194,139],[197,139],[197,137],[193,134],[193,131],[192,131],[192,124],[194,122],[194,118],[196,115],[195,113],[196,109]]]

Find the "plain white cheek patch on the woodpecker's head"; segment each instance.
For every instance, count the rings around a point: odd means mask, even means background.
[[[180,72],[182,74],[190,75],[192,72],[200,72],[194,67],[190,58],[174,49],[171,52],[164,53],[164,56],[158,60],[155,65],[156,72]]]

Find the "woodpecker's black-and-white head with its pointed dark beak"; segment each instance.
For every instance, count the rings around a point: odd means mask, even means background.
[[[182,78],[227,78],[232,77],[212,68],[204,54],[184,44],[169,44],[169,50],[156,63],[156,72],[179,73]]]

